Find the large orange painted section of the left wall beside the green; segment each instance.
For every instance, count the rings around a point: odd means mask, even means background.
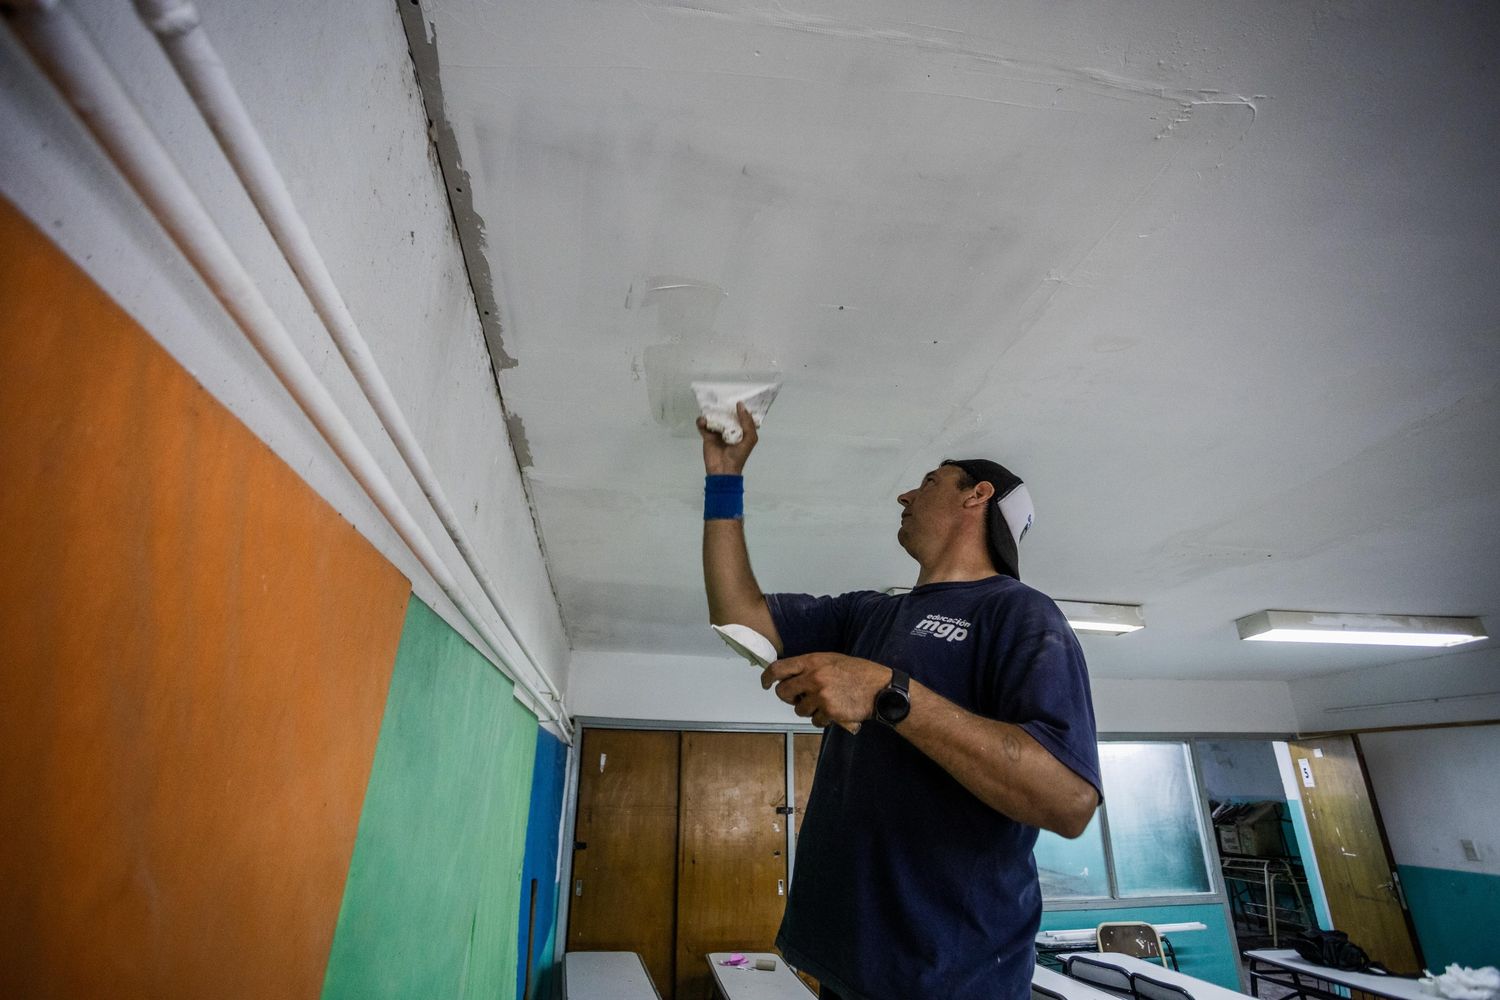
[[[316,997],[410,588],[0,201],[0,996]]]

